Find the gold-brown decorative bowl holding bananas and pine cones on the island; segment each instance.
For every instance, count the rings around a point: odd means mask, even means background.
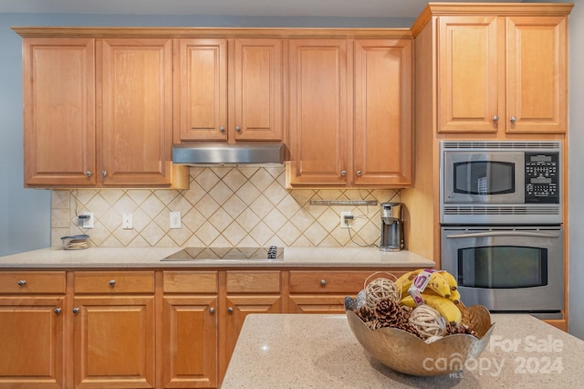
[[[466,361],[483,352],[495,326],[491,324],[489,311],[482,305],[463,307],[463,323],[473,326],[476,337],[457,333],[426,343],[412,333],[397,328],[371,330],[347,301],[345,310],[351,331],[367,352],[392,370],[418,376],[463,370]]]

